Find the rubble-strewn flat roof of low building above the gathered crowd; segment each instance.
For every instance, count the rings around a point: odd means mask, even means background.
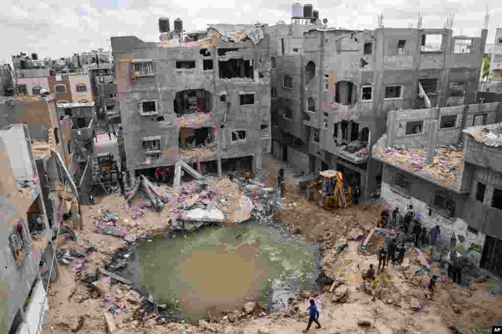
[[[456,189],[456,177],[461,175],[463,169],[463,149],[452,145],[438,146],[430,165],[425,163],[426,157],[426,149],[408,149],[404,145],[373,149],[373,158],[377,160],[414,173],[442,187]]]

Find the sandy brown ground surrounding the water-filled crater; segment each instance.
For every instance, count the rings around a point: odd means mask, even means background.
[[[268,166],[264,174],[266,186],[274,186],[277,165]],[[287,174],[288,175],[288,174]],[[235,197],[237,198],[237,197]],[[286,184],[283,211],[277,213],[285,226],[290,226],[294,233],[306,234],[309,240],[322,243],[322,265],[325,272],[341,284],[335,291],[345,289],[348,298],[343,302],[333,302],[336,292],[330,293],[324,288],[320,301],[322,329],[315,324],[310,332],[319,333],[450,333],[449,326],[457,328],[490,328],[502,314],[501,298],[488,297],[486,283],[472,284],[471,290],[459,290],[451,282],[437,282],[435,295],[426,294],[424,282],[430,279],[427,274],[415,275],[415,265],[419,263],[414,251],[405,259],[403,266],[390,266],[380,276],[381,283],[377,298],[372,301],[363,288],[361,273],[370,263],[378,265],[376,248],[383,243],[383,237],[375,235],[370,241],[367,252],[361,253],[359,242],[348,241],[348,247],[342,252],[336,251],[336,242],[346,238],[354,228],[364,234],[376,224],[380,216],[381,205],[354,205],[347,209],[325,211],[315,203],[298,195],[297,183],[289,180]],[[118,211],[120,225],[128,233],[143,234],[147,231],[163,231],[169,222],[170,209],[159,213],[145,211],[141,221],[135,222],[128,212],[125,200],[117,196],[96,198],[94,206],[82,206],[84,228],[75,231],[78,242],[58,244],[59,249],[74,248],[85,250],[86,242],[92,242],[97,251],[87,260],[84,272],[94,273],[109,261],[109,252],[125,244],[121,238],[106,236],[94,232],[92,216],[99,216],[100,210]],[[427,256],[427,252],[425,253]],[[233,323],[228,320],[211,322],[206,327],[192,326],[186,323],[157,324],[155,318],[143,318],[139,315],[139,295],[126,286],[119,284],[115,290],[109,290],[109,281],[98,283],[96,290],[88,292],[85,275],[76,275],[68,266],[59,267],[59,278],[49,288],[48,327],[44,333],[63,334],[68,332],[106,333],[104,312],[108,298],[121,298],[126,310],[114,314],[117,325],[114,333],[198,333],[224,332],[289,334],[299,333],[306,327],[306,308],[308,300],[299,298],[297,305],[301,312],[294,314],[268,314],[265,317],[242,316],[236,310]],[[304,295],[305,297],[305,295]],[[423,305],[421,311],[415,311],[412,305]],[[369,326],[358,324],[366,320]]]

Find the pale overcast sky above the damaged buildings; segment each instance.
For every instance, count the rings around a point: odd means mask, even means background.
[[[137,36],[147,42],[159,39],[158,19],[168,17],[171,29],[181,18],[186,31],[205,29],[208,24],[274,25],[290,22],[291,2],[255,0],[190,0],[171,3],[165,0],[28,0],[20,3],[3,0],[0,11],[2,47],[0,64],[11,63],[11,56],[24,52],[59,59],[74,53],[103,48],[111,50],[110,37]],[[480,36],[486,5],[490,22],[487,43],[493,43],[495,29],[502,28],[502,3],[498,0],[353,0],[343,4],[328,0],[312,2],[321,19],[332,28],[375,29],[384,14],[386,28],[414,27],[417,14],[423,13],[423,28],[443,28],[453,13],[454,35]]]

